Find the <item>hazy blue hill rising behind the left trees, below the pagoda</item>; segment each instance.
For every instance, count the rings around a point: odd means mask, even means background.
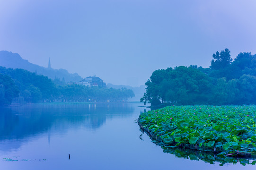
[[[36,74],[48,76],[51,79],[56,77],[60,80],[65,79],[65,82],[79,82],[82,77],[77,73],[71,74],[65,69],[53,69],[44,68],[36,64],[28,62],[26,59],[22,59],[18,53],[12,53],[9,51],[0,51],[0,66],[6,68],[23,68]]]

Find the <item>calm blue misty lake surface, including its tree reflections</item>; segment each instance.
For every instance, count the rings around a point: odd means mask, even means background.
[[[33,104],[0,108],[3,170],[254,170],[164,153],[134,121],[141,103]],[[69,159],[70,154],[70,159]],[[6,159],[18,161],[5,161]],[[2,161],[3,160],[3,161]]]

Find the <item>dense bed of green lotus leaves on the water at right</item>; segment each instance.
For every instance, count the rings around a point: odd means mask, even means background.
[[[256,154],[256,106],[169,106],[141,113],[138,123],[155,139],[227,154]]]

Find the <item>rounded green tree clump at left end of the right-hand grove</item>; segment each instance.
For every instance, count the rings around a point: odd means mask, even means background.
[[[156,78],[161,75],[160,78]],[[156,70],[145,84],[146,93],[141,101],[151,105],[161,103],[207,103],[212,90],[209,76],[194,66]]]

